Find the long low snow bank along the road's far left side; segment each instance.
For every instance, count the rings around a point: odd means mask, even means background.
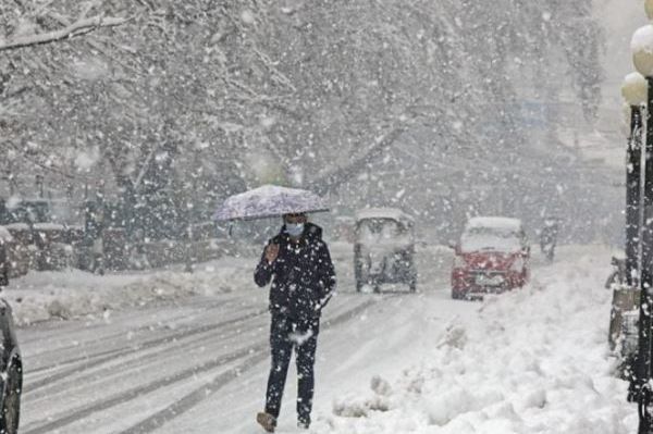
[[[181,270],[103,276],[79,270],[29,273],[12,281],[2,297],[12,306],[16,324],[24,326],[247,288],[252,285],[255,262],[255,259],[224,258],[198,265],[194,273]]]

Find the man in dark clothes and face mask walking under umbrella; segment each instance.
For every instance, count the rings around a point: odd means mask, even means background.
[[[308,429],[315,390],[313,365],[320,314],[335,289],[335,271],[322,228],[304,213],[284,214],[279,235],[269,240],[254,280],[270,286],[272,365],[266,408],[257,422],[273,433],[293,349],[297,363],[297,426]]]

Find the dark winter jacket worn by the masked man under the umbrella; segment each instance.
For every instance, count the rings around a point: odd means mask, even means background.
[[[335,271],[322,230],[307,223],[299,243],[293,243],[284,225],[268,244],[279,245],[279,256],[269,264],[263,250],[254,280],[261,287],[272,280],[270,311],[297,320],[319,318],[335,289]]]

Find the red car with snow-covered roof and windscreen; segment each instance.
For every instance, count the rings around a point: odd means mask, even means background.
[[[455,246],[452,298],[478,298],[526,285],[530,247],[520,220],[473,218]]]

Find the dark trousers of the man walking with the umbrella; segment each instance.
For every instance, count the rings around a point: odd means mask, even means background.
[[[315,390],[313,365],[318,346],[320,320],[296,321],[281,313],[272,313],[270,347],[272,367],[268,379],[266,412],[279,418],[293,348],[297,363],[297,419],[310,423]]]

